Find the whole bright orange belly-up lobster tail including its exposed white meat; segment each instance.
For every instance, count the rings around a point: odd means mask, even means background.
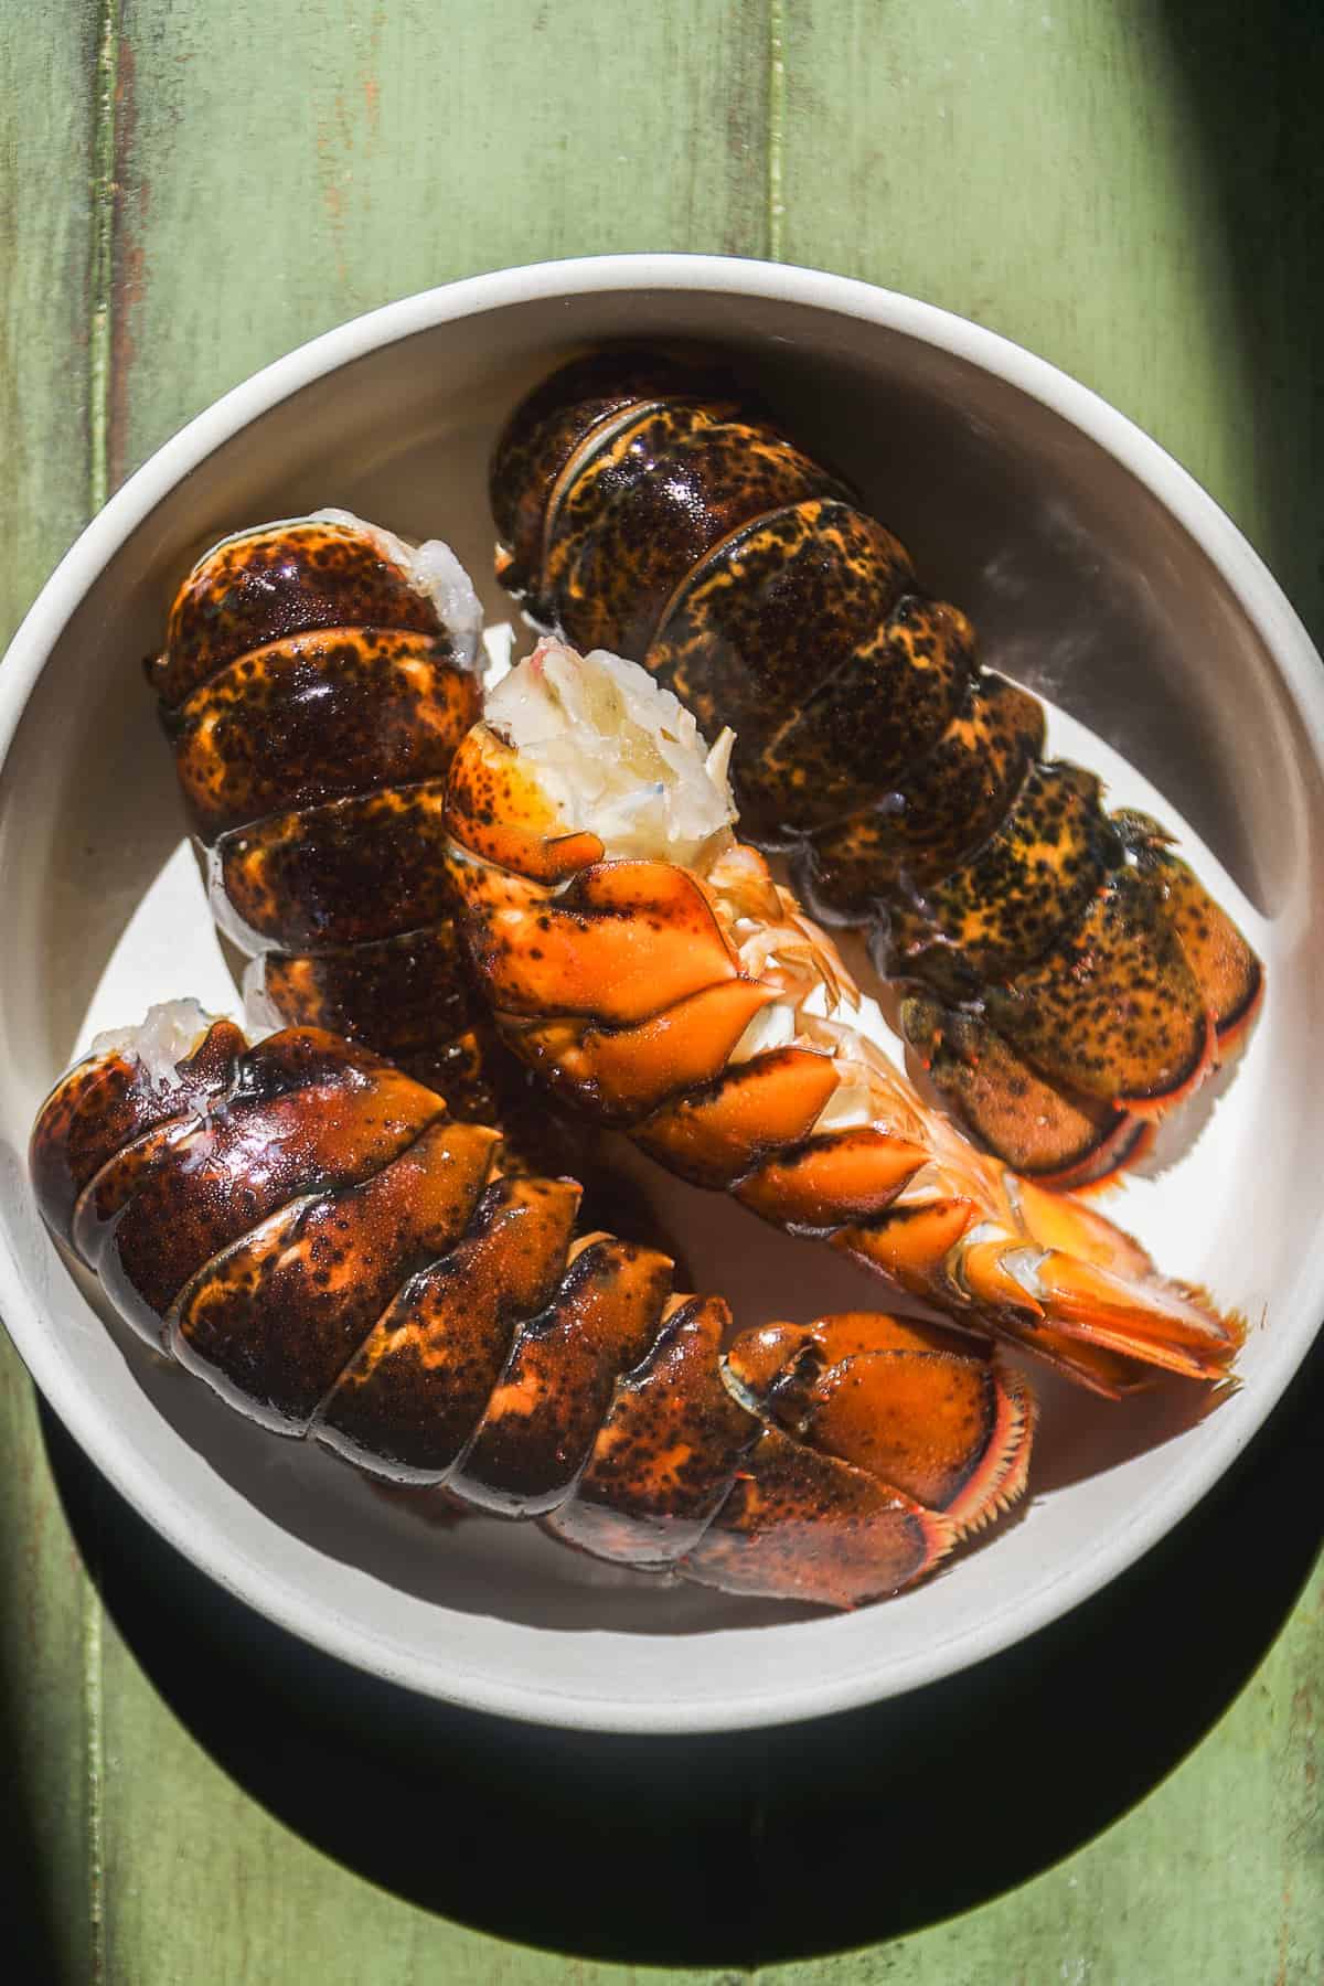
[[[730,739],[556,641],[457,753],[453,872],[508,1041],[580,1110],[1102,1392],[1241,1331],[1135,1241],[975,1152],[861,1033],[830,939],[730,832]]]

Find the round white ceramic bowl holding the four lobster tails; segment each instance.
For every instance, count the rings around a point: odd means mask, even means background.
[[[526,1525],[427,1525],[107,1327],[26,1184],[32,1114],[95,1027],[177,993],[236,1001],[137,667],[191,556],[226,530],[341,504],[449,538],[484,584],[500,419],[566,350],[621,334],[744,354],[927,584],[973,614],[985,657],[1070,713],[1058,747],[1201,836],[1199,862],[1268,965],[1235,1080],[1181,1160],[1114,1202],[1163,1267],[1253,1319],[1241,1392],[1199,1418],[1181,1386],[1131,1408],[1044,1386],[1022,1519],[852,1617],[659,1585]],[[490,584],[486,600],[508,612]],[[925,304],[794,268],[619,256],[480,276],[359,318],[220,399],[83,532],[0,669],[0,1313],[54,1410],[167,1539],[375,1674],[635,1732],[774,1724],[951,1674],[1161,1537],[1262,1422],[1324,1313],[1324,1116],[1308,1106],[1324,1055],[1318,657],[1239,532],[1151,441]],[[879,1301],[824,1249],[715,1198],[673,1190],[663,1215],[701,1285],[744,1321]]]

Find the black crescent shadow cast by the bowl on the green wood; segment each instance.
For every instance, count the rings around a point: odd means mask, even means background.
[[[48,1410],[42,1428],[129,1650],[286,1827],[494,1936],[752,1966],[985,1903],[1151,1791],[1245,1686],[1310,1573],[1322,1410],[1318,1345],[1167,1539],[1006,1654],[836,1718],[713,1738],[544,1730],[359,1674],[232,1601]]]

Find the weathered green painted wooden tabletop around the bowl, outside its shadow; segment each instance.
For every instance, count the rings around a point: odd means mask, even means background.
[[[449,276],[615,248],[784,256],[1022,340],[1185,461],[1324,628],[1310,0],[10,0],[0,64],[6,634],[105,491],[254,365]],[[0,1414],[6,1913],[54,1976],[637,1976],[403,1901],[254,1797],[159,1688],[169,1621],[149,1676],[141,1638],[101,1611],[97,1525],[117,1517],[85,1491],[75,1549],[8,1347]],[[1316,1426],[1290,1440],[1308,1456]],[[1314,1488],[1304,1462],[1272,1480]],[[1239,1565],[1217,1573],[1235,1611]],[[1324,1978],[1318,1567],[1272,1629],[1268,1611],[1272,1644],[1195,1750],[1066,1861],[758,1976]],[[1143,1694],[1143,1660],[1125,1686]],[[933,1857],[977,1871],[1010,1791],[953,1815]],[[437,1799],[441,1819],[445,1783]],[[592,1859],[588,1841],[590,1891]],[[639,1871],[639,1970],[649,1918],[685,1909]]]

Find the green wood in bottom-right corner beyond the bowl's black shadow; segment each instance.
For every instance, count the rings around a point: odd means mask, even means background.
[[[1286,1632],[1205,1744],[1080,1855],[913,1938],[758,1978],[762,1986],[1318,1986],[1322,1702],[1324,1569],[1316,1569]],[[987,1825],[996,1827],[994,1787],[991,1805]],[[965,1851],[977,1853],[977,1839]]]

